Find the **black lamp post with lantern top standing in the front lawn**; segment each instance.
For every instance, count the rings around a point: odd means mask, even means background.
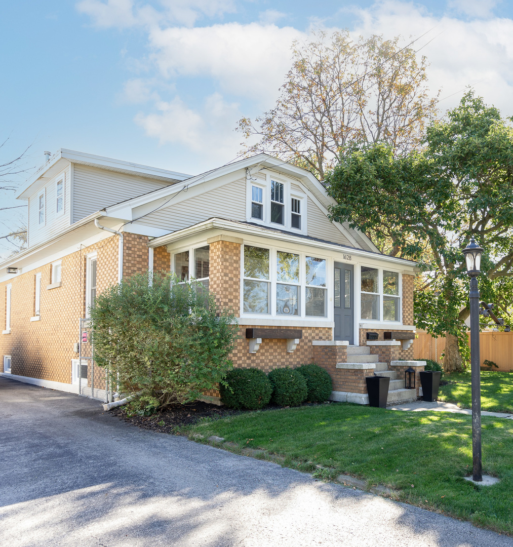
[[[481,273],[481,254],[484,249],[471,238],[463,249],[470,277],[470,367],[472,378],[472,479],[483,480],[481,465],[481,357],[479,354],[479,288],[477,276]]]

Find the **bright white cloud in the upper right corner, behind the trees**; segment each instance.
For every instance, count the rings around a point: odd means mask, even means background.
[[[422,7],[398,1],[376,3],[369,9],[357,10],[357,14],[360,22],[354,28],[355,34],[402,34],[409,40],[410,35],[419,37],[429,31],[413,47],[422,48],[418,55],[426,55],[430,63],[428,77],[433,94],[441,88],[441,99],[450,96],[440,102],[442,112],[456,106],[465,87],[471,85],[504,116],[513,114],[511,19],[436,18]]]

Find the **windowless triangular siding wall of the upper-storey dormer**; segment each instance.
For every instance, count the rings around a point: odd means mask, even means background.
[[[162,181],[74,164],[73,222],[165,186],[168,184]]]

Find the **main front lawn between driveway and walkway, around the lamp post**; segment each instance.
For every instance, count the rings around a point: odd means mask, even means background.
[[[331,403],[250,412],[182,432],[281,455],[305,472],[322,465],[323,479],[351,474],[393,488],[400,501],[513,535],[513,421],[504,418],[482,418],[483,472],[500,478],[489,487],[464,480],[472,467],[467,415]]]

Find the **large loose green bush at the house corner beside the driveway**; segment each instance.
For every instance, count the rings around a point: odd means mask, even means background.
[[[145,408],[194,400],[233,366],[234,316],[174,274],[115,284],[97,296],[91,318],[96,364],[121,392],[141,392]]]

